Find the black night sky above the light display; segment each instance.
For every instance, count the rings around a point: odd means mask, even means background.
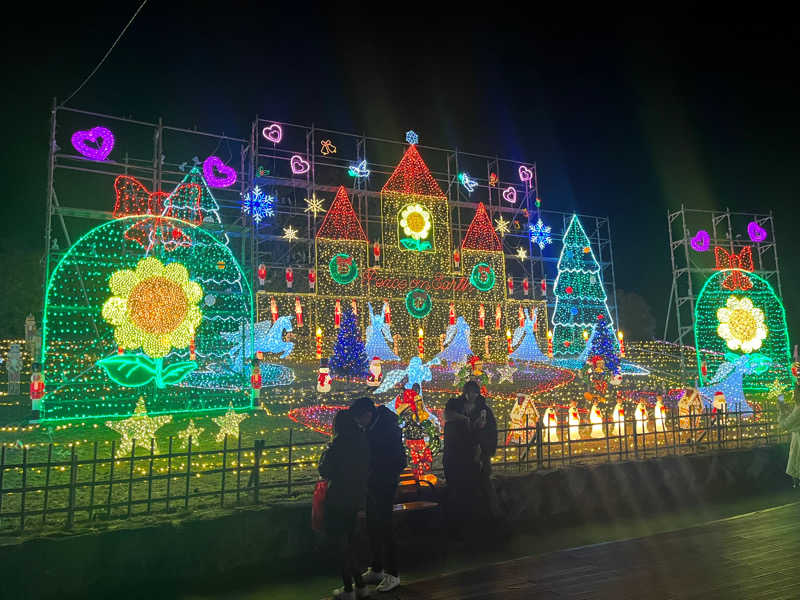
[[[4,24],[4,252],[41,249],[48,108],[138,4]],[[431,145],[535,161],[547,206],[611,217],[618,287],[647,299],[658,332],[667,209],[771,209],[790,330],[800,325],[796,28],[499,14],[361,26],[333,3],[303,15],[185,6],[148,3],[70,105],[241,135],[257,113],[392,139],[413,128]]]

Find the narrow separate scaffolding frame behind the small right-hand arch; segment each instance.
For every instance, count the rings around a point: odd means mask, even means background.
[[[767,237],[763,242],[756,243],[748,237],[747,225],[751,221],[766,229]],[[708,252],[697,252],[691,247],[691,238],[700,230],[709,234]],[[738,253],[745,246],[751,246],[754,272],[766,279],[779,297],[783,297],[772,211],[732,212],[728,208],[700,210],[681,205],[679,210],[667,211],[667,231],[672,261],[672,288],[664,324],[665,340],[682,346],[694,344],[691,333],[694,328],[695,301],[705,280],[716,271],[713,257],[715,246],[725,248],[730,253]],[[669,337],[673,324],[674,335]]]

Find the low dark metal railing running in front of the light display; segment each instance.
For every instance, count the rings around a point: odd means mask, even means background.
[[[694,454],[783,442],[775,409],[724,415],[668,414],[658,424],[621,423],[557,428],[541,422],[498,430],[497,469],[528,471],[658,456]],[[658,426],[656,426],[658,425]],[[594,427],[594,429],[592,429]],[[233,441],[233,443],[230,443]],[[198,450],[192,440],[177,448],[169,438],[166,452],[155,440],[149,451],[134,444],[120,456],[115,442],[49,444],[40,448],[0,447],[0,532],[42,527],[71,529],[134,516],[186,513],[197,509],[268,504],[310,495],[317,480],[321,442],[286,444],[254,440],[244,445],[226,437],[222,448]],[[105,450],[108,453],[105,456]],[[60,454],[60,455],[59,455]],[[441,473],[437,458],[433,469]]]

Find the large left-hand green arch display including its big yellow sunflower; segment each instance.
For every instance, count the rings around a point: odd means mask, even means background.
[[[216,219],[212,206],[202,210],[209,220]],[[99,225],[53,269],[43,320],[43,420],[129,416],[140,396],[149,414],[251,405],[249,373],[215,368],[235,345],[221,334],[252,319],[246,277],[217,237],[224,233],[161,217],[191,245],[167,251],[156,244],[145,258],[126,233],[148,219]],[[201,311],[204,294],[215,300]]]

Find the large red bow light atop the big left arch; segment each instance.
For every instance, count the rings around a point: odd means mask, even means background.
[[[168,217],[200,224],[200,196],[202,189],[196,183],[183,183],[174,192],[150,192],[135,177],[120,175],[114,180],[116,203],[114,218],[150,215],[151,218],[138,221],[125,232],[125,238],[136,242],[150,251],[157,242],[164,245],[167,252],[178,246],[191,246],[192,240],[180,227],[173,225]],[[189,199],[187,206],[174,206],[174,198],[185,194]]]

